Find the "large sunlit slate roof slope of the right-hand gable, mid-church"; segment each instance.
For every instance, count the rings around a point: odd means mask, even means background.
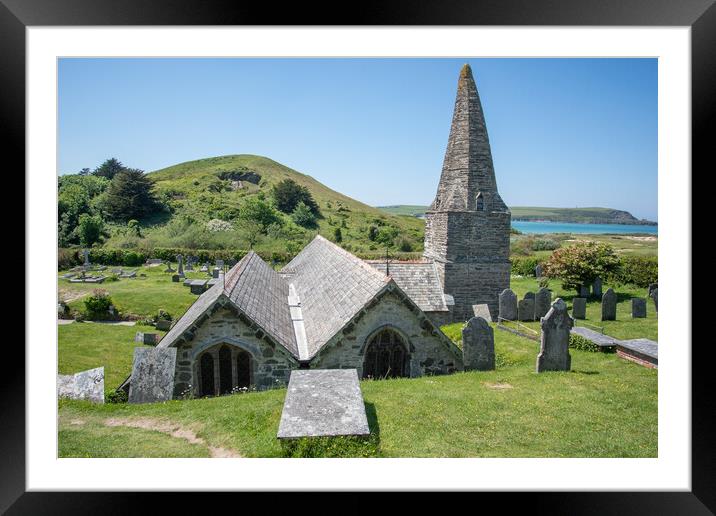
[[[280,272],[300,299],[308,358],[368,304],[390,278],[318,235]]]

